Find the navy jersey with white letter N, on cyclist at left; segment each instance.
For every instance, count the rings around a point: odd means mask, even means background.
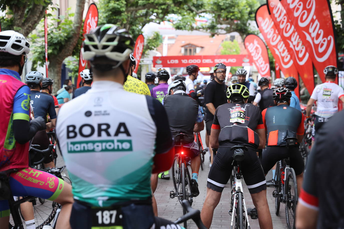
[[[42,117],[48,122],[47,115],[50,119],[56,118],[55,104],[52,96],[39,91],[31,91],[31,105],[36,117]]]

